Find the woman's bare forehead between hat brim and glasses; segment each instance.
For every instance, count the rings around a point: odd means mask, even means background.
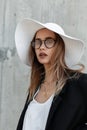
[[[51,30],[46,29],[46,28],[42,28],[42,29],[37,31],[36,38],[44,39],[46,37],[55,38],[55,33],[53,31],[51,31]]]

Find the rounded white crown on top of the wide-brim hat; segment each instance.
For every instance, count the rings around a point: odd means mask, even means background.
[[[59,26],[58,24],[56,23],[46,23],[45,26],[50,29],[50,30],[53,30],[54,32],[57,32],[61,35],[65,35],[65,32],[63,30],[63,28],[61,26]]]

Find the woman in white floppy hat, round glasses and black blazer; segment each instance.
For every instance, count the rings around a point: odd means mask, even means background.
[[[17,130],[87,130],[87,75],[81,40],[55,23],[25,19],[17,25],[20,59],[31,66],[28,97]]]

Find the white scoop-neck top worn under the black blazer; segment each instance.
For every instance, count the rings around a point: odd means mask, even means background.
[[[38,91],[35,93],[34,97]],[[27,108],[23,123],[23,130],[45,130],[54,94],[51,95],[51,97],[44,103],[39,103],[34,97]]]

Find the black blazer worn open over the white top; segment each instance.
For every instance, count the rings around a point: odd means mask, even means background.
[[[22,130],[28,100],[16,130]],[[39,117],[38,117],[39,118]],[[45,130],[87,130],[87,74],[69,79],[59,95],[54,96]]]

